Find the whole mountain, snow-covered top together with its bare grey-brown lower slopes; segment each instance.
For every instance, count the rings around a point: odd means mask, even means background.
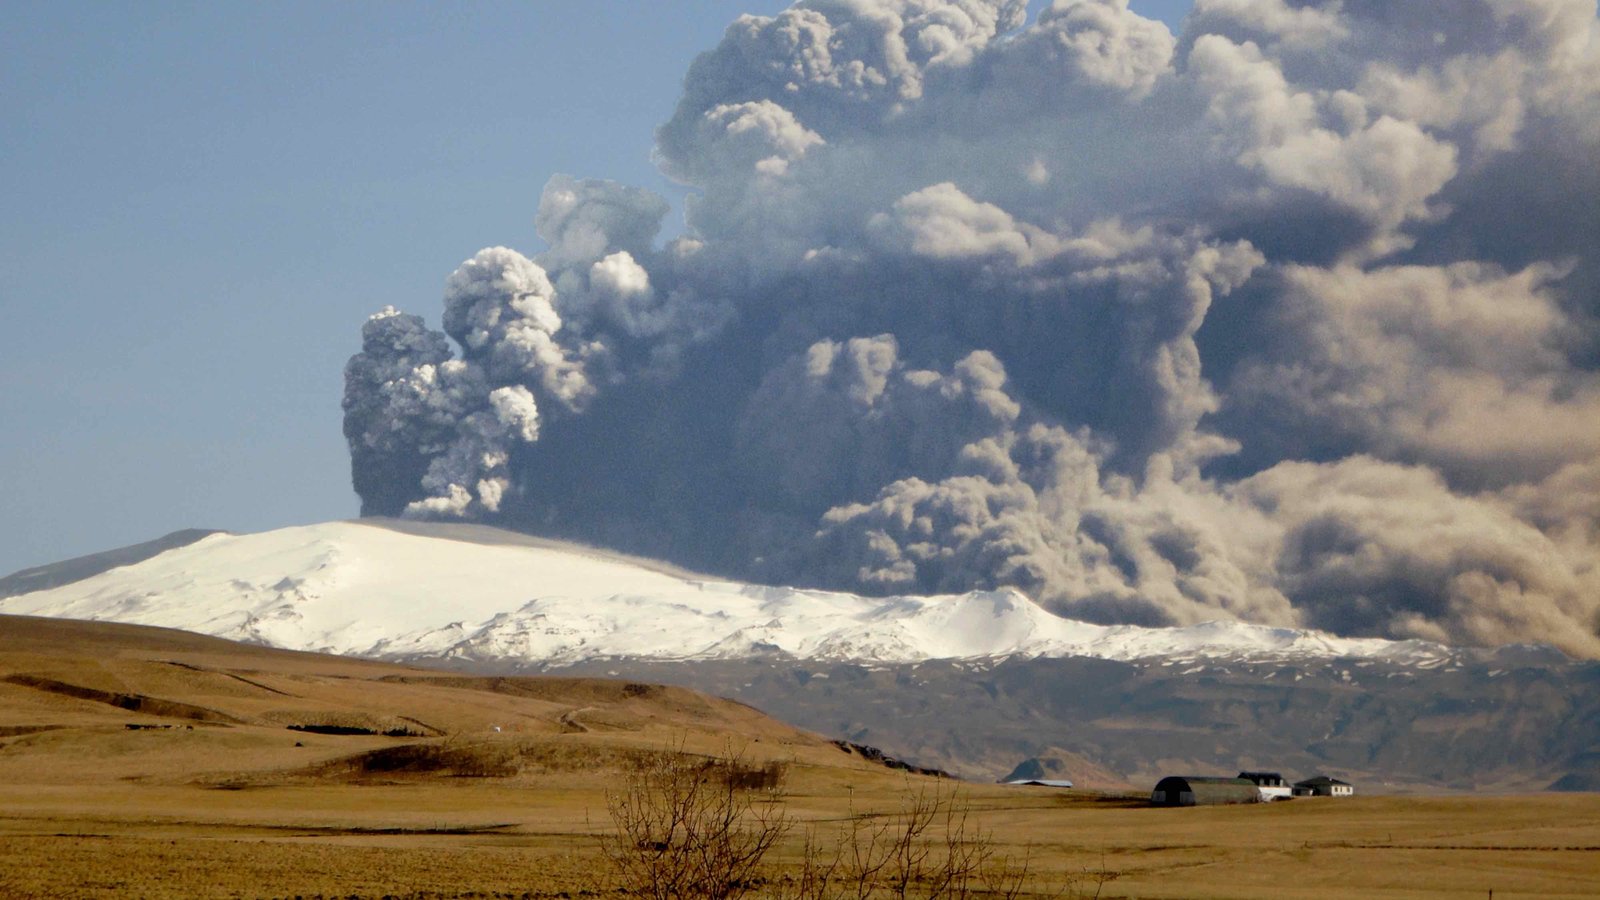
[[[86,575],[3,597],[0,613],[680,684],[984,780],[1056,757],[1083,785],[1179,769],[1326,772],[1363,791],[1600,783],[1600,663],[1549,647],[1098,626],[1016,591],[739,585],[483,525],[208,533],[93,573],[62,565],[38,572]]]

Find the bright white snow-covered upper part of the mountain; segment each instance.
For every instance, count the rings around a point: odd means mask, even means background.
[[[861,597],[741,585],[512,535],[486,543],[485,532],[456,540],[448,525],[402,532],[325,522],[218,533],[72,585],[0,599],[0,613],[155,625],[291,650],[523,665],[763,655],[1362,657],[1421,665],[1451,655],[1421,641],[1237,621],[1090,625],[1013,589]]]

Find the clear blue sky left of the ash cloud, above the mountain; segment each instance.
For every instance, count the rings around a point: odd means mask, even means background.
[[[1186,2],[1133,3],[1173,24]],[[0,573],[354,516],[344,360],[784,3],[0,5]]]

